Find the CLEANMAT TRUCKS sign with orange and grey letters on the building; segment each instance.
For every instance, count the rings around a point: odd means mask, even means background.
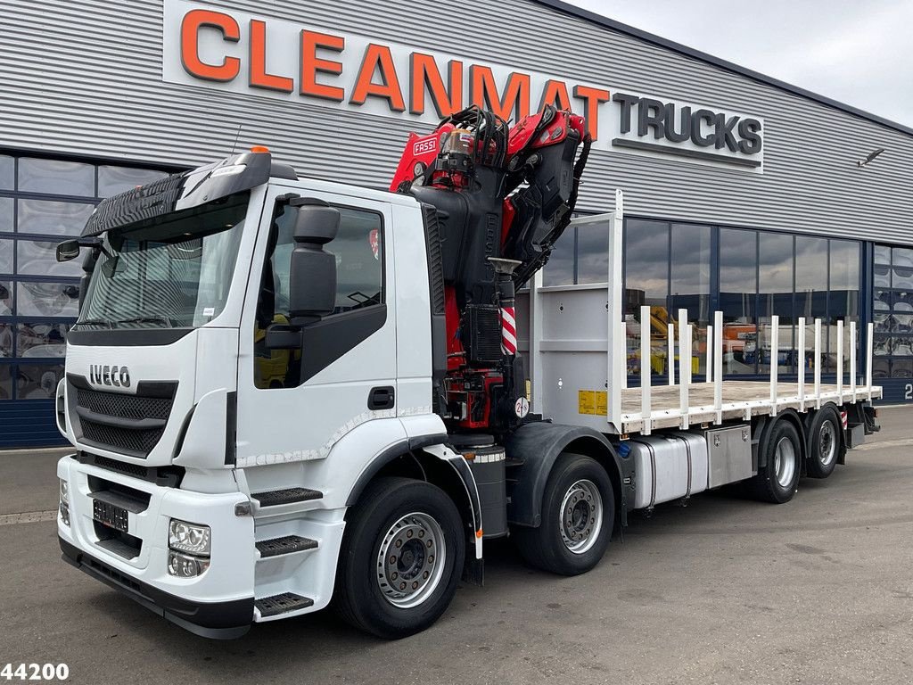
[[[163,79],[436,124],[472,104],[517,121],[547,103],[586,117],[594,149],[761,171],[758,117],[376,37],[165,0]]]

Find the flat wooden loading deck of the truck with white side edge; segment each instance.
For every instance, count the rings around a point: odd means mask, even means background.
[[[825,402],[842,405],[853,401],[853,392],[849,385],[838,390],[836,385],[822,385],[820,395],[814,395],[814,386],[805,384],[803,401],[799,399],[799,385],[781,383],[777,385],[776,405],[771,402],[771,385],[766,381],[724,381],[723,400],[719,411],[713,406],[714,385],[696,383],[688,385],[687,411],[681,408],[680,388],[678,385],[655,385],[651,388],[651,427],[671,428],[697,427],[702,424],[719,423],[720,420],[750,420],[751,416],[775,414],[785,408],[797,409],[800,412],[813,409]],[[857,385],[856,399],[867,400],[869,389]],[[881,397],[881,387],[872,388],[872,399]],[[640,388],[622,391],[622,427],[623,433],[633,433],[644,429],[644,417],[641,416]]]

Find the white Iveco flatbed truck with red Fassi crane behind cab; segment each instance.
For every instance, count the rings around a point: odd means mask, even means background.
[[[544,197],[530,170],[558,114],[531,124],[531,147],[509,138],[527,169],[516,193]],[[436,139],[438,171],[512,165],[483,159],[508,140],[503,122],[472,116]],[[413,172],[415,187],[384,193],[243,153],[111,198],[61,243],[85,272],[57,395],[75,448],[58,463],[69,564],[207,637],[332,602],[397,638],[431,625],[461,578],[481,583],[488,538],[511,534],[530,564],[579,574],[630,511],[739,480],[789,501],[876,429],[880,388],[857,383],[855,354],[839,385],[821,384],[804,341],[807,382],[778,383],[776,365],[770,383],[723,381],[720,321],[708,381],[680,364],[677,385],[651,388],[647,311],[644,384],[626,389],[638,351],[624,342],[620,203],[585,219],[610,234],[607,284],[541,288],[537,269],[511,274],[540,266],[529,255],[547,256],[560,230],[520,246],[511,227],[552,216],[547,197],[530,210],[510,195],[516,216],[494,224],[469,198],[457,226],[458,207],[431,191],[487,182]],[[560,184],[567,210],[576,184]],[[488,291],[466,276],[479,245]],[[530,286],[516,305],[513,285]],[[668,353],[690,359],[677,322]]]

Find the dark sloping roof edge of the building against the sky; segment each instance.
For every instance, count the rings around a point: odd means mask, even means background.
[[[648,33],[639,28],[635,28],[635,26],[622,24],[621,22],[610,19],[607,16],[597,15],[595,12],[591,12],[590,10],[583,9],[582,7],[578,7],[576,5],[570,5],[563,0],[532,0],[532,2],[539,5],[545,5],[566,15],[576,16],[577,18],[584,19],[586,21],[592,22],[593,24],[598,24],[604,28],[610,28],[614,31],[618,31],[619,33],[644,40],[645,42],[652,43],[658,47],[665,47],[668,50],[672,50],[673,52],[685,55],[686,57],[699,59],[700,61],[707,62],[714,67],[726,69],[727,71],[731,71],[740,76],[744,76],[748,79],[758,81],[780,90],[785,90],[786,92],[792,93],[793,95],[798,95],[808,100],[814,100],[820,104],[832,107],[835,110],[845,111],[848,114],[853,114],[854,116],[859,117],[860,119],[865,119],[866,121],[872,121],[874,123],[880,124],[881,126],[885,126],[888,129],[906,133],[908,135],[913,135],[913,127],[905,126],[902,123],[897,123],[897,121],[885,119],[884,117],[880,117],[877,114],[872,114],[871,112],[865,110],[860,110],[853,105],[848,105],[845,102],[840,102],[839,100],[834,100],[832,98],[825,97],[824,95],[819,95],[818,93],[812,92],[811,90],[805,90],[799,86],[793,86],[792,84],[786,83],[780,79],[774,79],[771,76],[761,74],[759,71],[740,67],[734,62],[729,62],[726,59],[714,57],[713,55],[709,55],[706,52],[701,52],[700,50],[697,50],[693,47],[687,47],[686,45],[676,43],[673,40],[668,40],[667,38],[656,36],[655,34]]]

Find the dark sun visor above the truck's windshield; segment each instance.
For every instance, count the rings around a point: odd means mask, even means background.
[[[166,176],[103,200],[89,216],[81,235],[99,236],[111,228],[129,226],[250,190],[267,183],[271,167],[269,153],[242,153],[184,174]]]

